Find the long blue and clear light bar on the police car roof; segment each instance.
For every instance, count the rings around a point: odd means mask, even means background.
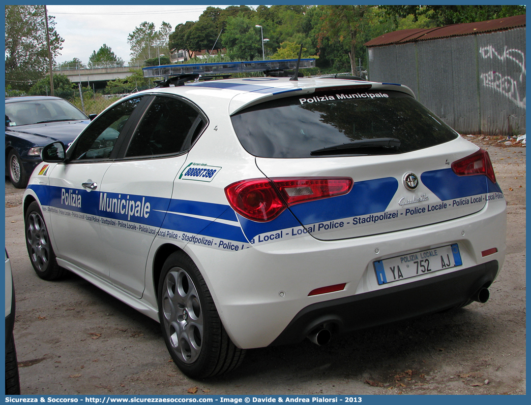
[[[142,68],[144,77],[212,75],[262,71],[286,71],[297,67],[297,59],[253,60],[246,62],[195,63]],[[315,67],[315,59],[301,59],[299,68]]]

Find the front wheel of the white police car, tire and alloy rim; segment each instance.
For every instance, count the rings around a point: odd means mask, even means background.
[[[24,229],[28,254],[37,275],[44,280],[56,280],[63,277],[66,270],[57,264],[46,223],[37,201],[33,201],[28,207]]]

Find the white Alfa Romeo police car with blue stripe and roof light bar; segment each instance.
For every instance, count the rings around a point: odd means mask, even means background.
[[[489,155],[407,87],[183,85],[295,63],[147,68],[178,76],[110,106],[66,152],[45,147],[24,195],[37,274],[71,270],[159,320],[192,377],[230,371],[247,348],[485,302],[503,193]]]

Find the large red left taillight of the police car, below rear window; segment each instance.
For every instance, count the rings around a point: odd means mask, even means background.
[[[247,219],[267,222],[301,202],[341,196],[353,180],[341,178],[273,178],[241,180],[225,187],[231,207]]]

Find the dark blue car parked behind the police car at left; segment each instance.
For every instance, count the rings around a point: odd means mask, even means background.
[[[71,144],[89,122],[78,108],[58,97],[6,98],[5,175],[13,186],[27,186],[33,169],[41,162],[43,146],[55,140]]]

